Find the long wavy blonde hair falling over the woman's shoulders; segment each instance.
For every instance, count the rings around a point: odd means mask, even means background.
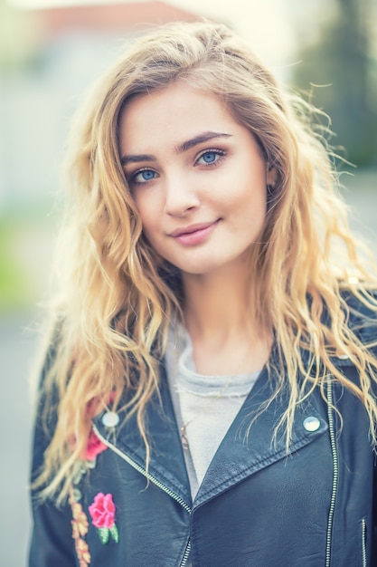
[[[287,444],[297,403],[308,390],[324,388],[329,374],[363,401],[375,440],[371,380],[376,360],[347,326],[342,289],[349,288],[375,312],[369,290],[376,278],[359,259],[337,194],[332,154],[321,131],[311,126],[316,111],[283,94],[226,26],[169,24],[128,47],[71,130],[71,205],[62,238],[68,262],[42,389],[47,411],[58,416],[37,482],[47,483],[44,495],[67,495],[90,433],[88,408],[95,402],[104,407],[110,392],[116,407],[124,390],[130,392],[128,416],[136,413],[149,456],[144,410],[158,390],[158,360],[183,292],[179,274],[143,236],[120,163],[118,120],[131,97],[177,80],[220,97],[277,171],[259,244],[250,255],[250,269],[258,274],[250,293],[257,322],[275,333],[279,360],[287,367],[284,375],[279,372],[278,387],[290,390],[280,424],[286,427]],[[302,349],[310,355],[308,366]],[[350,357],[360,387],[335,367],[335,354]]]

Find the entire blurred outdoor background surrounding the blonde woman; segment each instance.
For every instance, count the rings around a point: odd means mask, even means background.
[[[377,235],[377,3],[172,0],[74,4],[0,0],[1,565],[26,564],[30,369],[59,226],[72,112],[121,46],[151,25],[201,16],[230,24],[288,88],[333,119],[353,224]],[[374,245],[375,249],[375,245]],[[57,566],[59,567],[59,566]]]

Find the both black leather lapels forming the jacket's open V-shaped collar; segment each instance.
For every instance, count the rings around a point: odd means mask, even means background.
[[[148,474],[152,482],[163,485],[166,492],[174,493],[191,507],[192,497],[184,454],[163,364],[160,377],[160,397],[155,394],[146,408],[146,428],[150,432],[151,443]],[[269,401],[276,389],[277,380],[272,370],[269,372],[264,369],[260,373],[212,459],[195,497],[195,507],[287,456],[284,426],[273,438],[288,400],[287,391],[282,391],[278,397]],[[315,403],[312,396],[311,401],[306,400],[297,406],[290,453],[312,443],[327,430],[325,416],[321,416],[320,412],[321,404]],[[100,436],[108,442],[110,448],[116,447],[119,454],[127,456],[127,459],[137,465],[138,470],[146,474],[146,449],[138,432],[136,416],[125,420],[125,412],[119,412],[118,425],[107,428],[103,422],[105,414],[103,412],[93,420]],[[314,430],[307,428],[306,418],[316,418]]]

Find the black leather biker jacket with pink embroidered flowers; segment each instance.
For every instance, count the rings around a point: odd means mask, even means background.
[[[364,340],[375,336],[371,328],[360,332]],[[350,360],[335,362],[357,382]],[[325,389],[325,399],[316,389],[297,407],[287,456],[284,435],[272,439],[287,407],[285,393],[259,415],[246,437],[250,415],[274,389],[275,374],[264,370],[192,502],[161,369],[161,401],[155,397],[147,409],[148,472],[135,418],[124,425],[123,416],[112,412],[94,418],[96,436],[108,448],[88,474],[79,475],[71,505],[58,510],[34,503],[30,567],[175,567],[188,557],[193,567],[377,564],[374,455],[359,399],[336,384]],[[45,445],[37,425],[34,470]],[[76,525],[71,506],[80,520]],[[102,527],[93,524],[90,510]]]

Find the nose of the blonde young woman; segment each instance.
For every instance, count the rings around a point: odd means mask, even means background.
[[[199,207],[199,194],[189,177],[181,174],[165,178],[165,212],[168,215],[184,216]]]

